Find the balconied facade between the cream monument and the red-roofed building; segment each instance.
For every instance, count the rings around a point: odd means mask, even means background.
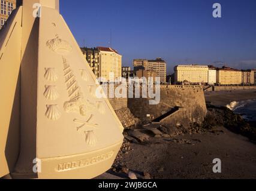
[[[98,48],[81,48],[96,78],[100,77],[100,52]]]

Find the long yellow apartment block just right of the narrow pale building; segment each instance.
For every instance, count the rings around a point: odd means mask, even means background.
[[[242,71],[231,67],[217,69],[217,83],[223,85],[242,84]]]

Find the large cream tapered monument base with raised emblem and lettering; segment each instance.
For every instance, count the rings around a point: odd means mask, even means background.
[[[109,101],[95,96],[99,85],[58,0],[23,0],[0,32],[0,67],[0,177],[109,170],[123,127]]]

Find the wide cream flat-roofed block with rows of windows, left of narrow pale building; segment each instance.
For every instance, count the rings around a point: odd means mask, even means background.
[[[174,81],[190,83],[207,83],[208,82],[208,66],[192,65],[179,65],[174,67]]]

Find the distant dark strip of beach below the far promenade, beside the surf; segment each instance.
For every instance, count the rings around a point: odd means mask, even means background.
[[[204,93],[206,103],[226,106],[233,101],[256,99],[256,90],[208,91]]]

